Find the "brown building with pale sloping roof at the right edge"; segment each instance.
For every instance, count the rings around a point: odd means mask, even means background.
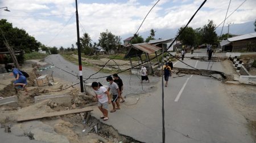
[[[222,40],[220,46],[222,51],[256,51],[256,32]]]

